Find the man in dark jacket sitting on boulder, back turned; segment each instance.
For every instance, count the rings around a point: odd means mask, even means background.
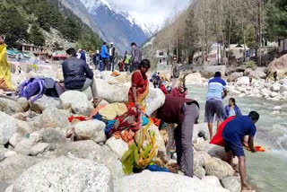
[[[77,58],[74,48],[66,50],[67,59],[62,64],[65,91],[74,90],[83,92],[91,87],[93,104],[95,107],[100,103],[96,82],[90,67],[81,59]]]

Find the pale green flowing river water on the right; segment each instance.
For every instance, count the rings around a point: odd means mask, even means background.
[[[207,87],[194,85],[187,87],[188,97],[200,104],[200,122],[204,122]],[[228,104],[230,97],[235,98],[243,114],[248,114],[251,110],[257,110],[260,114],[256,125],[255,144],[265,147],[266,152],[246,152],[248,181],[258,192],[287,191],[287,102],[228,95],[223,100],[225,105]],[[274,110],[277,106],[282,108],[279,112]]]

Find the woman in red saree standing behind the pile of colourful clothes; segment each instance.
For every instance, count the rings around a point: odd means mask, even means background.
[[[148,59],[143,59],[138,70],[132,74],[132,86],[128,92],[128,101],[135,103],[138,108],[141,108],[143,100],[149,92],[149,81],[146,73],[150,67],[150,61]]]

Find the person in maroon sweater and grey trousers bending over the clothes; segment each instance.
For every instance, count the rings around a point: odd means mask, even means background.
[[[194,124],[199,118],[199,104],[196,100],[166,96],[160,109],[152,113],[169,124],[178,124],[175,129],[178,166],[186,176],[193,177],[192,137]]]

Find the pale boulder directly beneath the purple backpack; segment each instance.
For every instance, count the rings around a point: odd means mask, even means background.
[[[41,98],[39,98],[39,100],[36,100],[31,105],[30,109],[32,109],[36,113],[41,113],[43,110],[49,107],[59,108],[60,101],[58,99],[43,95]]]

